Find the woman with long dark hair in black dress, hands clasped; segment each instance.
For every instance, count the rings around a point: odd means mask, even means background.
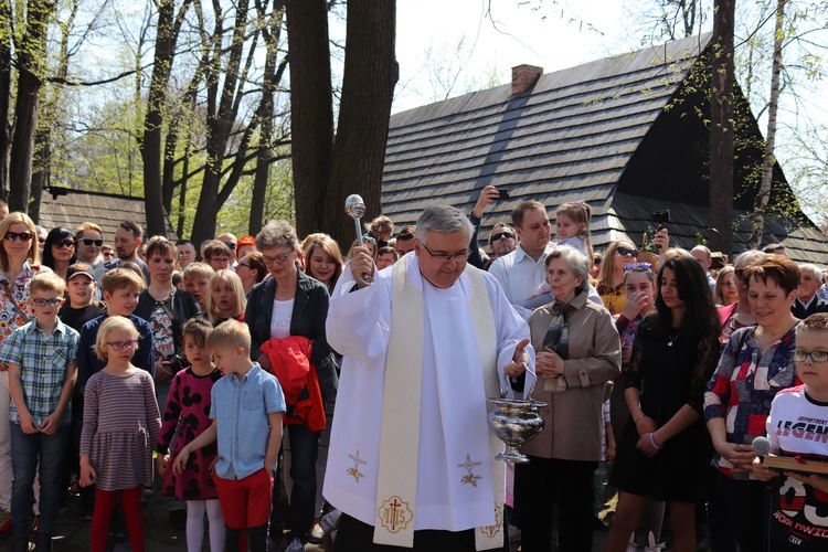
[[[608,551],[627,550],[648,498],[670,502],[673,550],[696,550],[696,503],[710,458],[701,414],[719,357],[719,318],[693,257],[669,257],[657,285],[656,314],[638,327],[624,378],[633,423],[618,442],[609,478],[619,496]]]

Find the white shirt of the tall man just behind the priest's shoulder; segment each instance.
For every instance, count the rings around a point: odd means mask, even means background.
[[[518,245],[518,248],[508,255],[498,257],[489,267],[489,274],[495,276],[500,287],[503,288],[506,298],[512,305],[514,310],[523,317],[523,320],[529,320],[532,316],[532,310],[520,307],[530,297],[534,296],[538,286],[546,280],[546,269],[543,266],[543,261],[546,258],[546,253],[552,250],[552,244],[546,245],[546,250],[543,255],[534,261],[532,257],[523,251],[523,247]]]

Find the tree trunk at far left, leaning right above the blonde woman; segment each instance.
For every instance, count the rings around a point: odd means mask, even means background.
[[[11,142],[9,163],[9,210],[29,210],[32,187],[32,161],[34,158],[34,134],[38,129],[40,89],[43,86],[41,71],[45,61],[49,20],[55,10],[50,0],[31,0],[26,6],[26,28],[17,51],[18,97],[14,103],[14,136]]]

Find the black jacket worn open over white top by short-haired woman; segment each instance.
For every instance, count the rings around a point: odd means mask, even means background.
[[[262,343],[270,339],[274,297],[276,297],[275,278],[256,284],[247,297],[244,321],[251,329],[251,358],[256,362],[262,355]],[[290,316],[290,335],[302,336],[314,341],[310,361],[316,365],[325,401],[336,399],[338,386],[333,351],[325,333],[329,305],[328,287],[299,272],[294,296],[294,310]]]

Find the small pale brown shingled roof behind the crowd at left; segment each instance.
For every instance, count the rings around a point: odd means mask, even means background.
[[[67,188],[43,190],[39,224],[46,230],[64,226],[73,232],[84,222],[100,226],[104,240],[110,242],[115,230],[124,221],[132,221],[147,229],[144,198],[112,193],[86,192]],[[65,193],[64,193],[65,192]],[[167,220],[167,237],[177,240],[170,221]]]

